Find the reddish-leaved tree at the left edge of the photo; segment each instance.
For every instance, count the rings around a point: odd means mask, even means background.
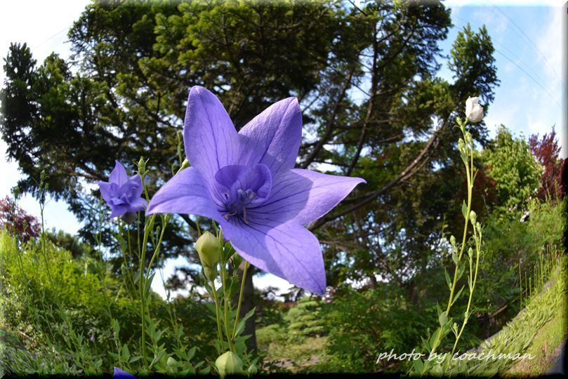
[[[39,221],[9,197],[0,199],[0,230],[17,235],[22,241],[39,236]]]

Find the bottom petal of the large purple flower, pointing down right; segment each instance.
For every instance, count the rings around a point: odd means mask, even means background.
[[[323,295],[326,277],[322,248],[314,234],[291,220],[279,224],[270,220],[233,225],[220,222],[223,234],[235,250],[261,270],[291,284]]]

